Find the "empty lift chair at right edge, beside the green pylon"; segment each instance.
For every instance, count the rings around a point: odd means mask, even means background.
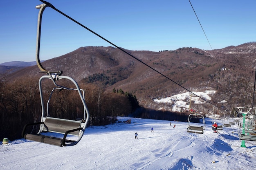
[[[243,120],[246,120],[245,122]],[[240,140],[256,141],[254,115],[244,116],[238,125],[238,137]]]

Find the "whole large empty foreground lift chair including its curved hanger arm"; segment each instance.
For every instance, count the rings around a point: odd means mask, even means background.
[[[39,59],[39,53],[40,53],[40,35],[41,35],[41,20],[43,11],[45,10],[45,7],[52,6],[49,2],[45,2],[47,4],[40,4],[36,6],[36,9],[40,9],[38,13],[38,20],[37,20],[37,42],[36,42],[36,63],[38,68],[40,69],[41,73],[46,73],[47,75],[43,75],[39,79],[39,91],[40,91],[40,100],[41,100],[41,106],[42,106],[42,115],[41,115],[41,121],[31,124],[26,124],[22,130],[22,137],[28,140],[32,141],[38,141],[45,144],[51,144],[54,146],[74,146],[76,145],[81,138],[83,137],[83,133],[85,131],[85,127],[88,124],[89,121],[89,111],[85,104],[84,100],[84,93],[82,95],[81,89],[79,88],[78,84],[74,79],[68,76],[63,76],[62,71],[47,71],[45,68],[43,68],[42,64],[40,63]],[[53,6],[52,6],[53,7]],[[81,99],[81,102],[83,104],[83,119],[81,120],[69,120],[69,119],[62,119],[62,118],[56,118],[56,117],[50,117],[48,104],[49,100],[47,102],[47,115],[45,115],[45,106],[43,103],[43,91],[42,91],[42,85],[41,82],[43,79],[51,79],[56,88],[54,89],[60,89],[60,90],[74,90],[77,91],[79,94],[79,97]],[[56,81],[59,79],[68,79],[76,86],[76,88],[66,88],[60,85],[56,84]],[[54,91],[52,90],[52,93]],[[51,95],[52,95],[51,93]],[[50,95],[50,97],[51,97]],[[50,98],[49,98],[50,99]],[[29,126],[40,126],[37,133],[27,133],[27,128]],[[46,132],[46,133],[44,133]],[[53,134],[57,134],[54,136]],[[75,135],[76,139],[73,138],[67,139],[68,136]],[[63,136],[63,137],[59,137]]]

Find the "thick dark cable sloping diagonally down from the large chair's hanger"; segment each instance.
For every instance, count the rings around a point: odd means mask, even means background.
[[[178,84],[177,82],[173,81],[172,79],[170,79],[169,77],[167,77],[166,75],[164,75],[163,73],[160,73],[159,71],[157,71],[155,68],[149,66],[148,64],[142,62],[141,60],[139,60],[138,58],[136,58],[135,56],[133,56],[132,54],[128,53],[127,51],[125,51],[124,49],[122,49],[121,47],[115,45],[114,43],[110,42],[109,40],[107,40],[106,38],[103,38],[101,35],[95,33],[94,31],[92,31],[91,29],[89,29],[88,27],[84,26],[83,24],[79,23],[78,21],[74,20],[73,18],[71,18],[70,16],[66,15],[65,13],[61,12],[60,10],[56,9],[51,3],[44,1],[44,0],[40,0],[41,2],[45,3],[48,7],[54,9],[55,11],[57,11],[58,13],[61,13],[62,15],[64,15],[65,17],[69,18],[70,20],[72,20],[73,22],[75,22],[76,24],[79,24],[80,26],[82,26],[83,28],[87,29],[88,31],[90,31],[91,33],[93,33],[94,35],[97,35],[99,38],[105,40],[106,42],[110,43],[111,45],[115,46],[117,49],[123,51],[124,53],[126,53],[127,55],[130,55],[130,57],[134,58],[135,60],[141,62],[142,64],[144,64],[145,66],[149,67],[150,69],[152,69],[153,71],[159,73],[160,75],[162,75],[163,77],[167,78],[168,80],[170,80],[171,82],[177,84],[178,86],[184,88],[186,91],[189,91],[189,89],[183,87],[182,85]],[[207,101],[206,99],[196,95],[195,93],[189,91],[190,93],[192,93],[193,95],[199,97],[200,99],[203,99],[204,101],[208,102],[209,104],[212,104],[213,106],[216,106],[215,104]],[[219,106],[216,106],[218,108],[220,108]]]

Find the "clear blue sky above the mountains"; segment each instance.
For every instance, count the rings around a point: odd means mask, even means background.
[[[256,0],[48,0],[113,44],[129,50],[222,49],[256,41]],[[2,0],[0,63],[36,60],[39,0]],[[40,60],[81,46],[111,46],[60,13],[43,13]]]

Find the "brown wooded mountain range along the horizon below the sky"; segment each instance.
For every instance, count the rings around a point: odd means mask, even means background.
[[[141,106],[154,109],[172,108],[172,104],[156,103],[153,99],[190,91],[214,90],[211,102],[231,110],[236,106],[252,106],[256,66],[256,42],[223,49],[201,50],[183,47],[166,51],[131,51],[135,60],[117,48],[86,46],[42,62],[46,70],[63,71],[85,84],[103,84],[106,91],[122,89],[137,96]],[[9,73],[9,81],[30,75],[41,76],[35,62],[9,62],[9,68],[21,69]],[[29,66],[29,67],[28,67]],[[9,69],[10,71],[10,69]],[[186,101],[189,103],[189,101]],[[212,110],[211,104],[201,104],[197,110]]]

